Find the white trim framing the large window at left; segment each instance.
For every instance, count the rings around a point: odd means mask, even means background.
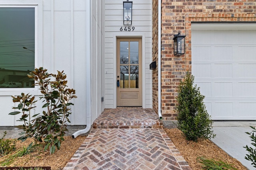
[[[42,65],[42,42],[43,42],[43,4],[42,0],[4,0],[0,8],[35,8],[35,68]],[[20,95],[22,92],[31,95],[40,94],[38,86],[34,88],[1,88],[0,96]]]

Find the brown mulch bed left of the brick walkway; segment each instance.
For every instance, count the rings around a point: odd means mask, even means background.
[[[71,136],[64,136],[64,141],[62,141],[60,150],[56,149],[54,154],[49,154],[48,152],[44,152],[42,147],[37,147],[36,151],[27,154],[21,158],[17,158],[14,163],[9,165],[8,167],[14,166],[50,166],[52,170],[61,170],[70,160],[70,158],[74,155],[76,150],[81,146],[84,142],[86,136],[78,136],[76,139],[72,139]],[[18,148],[22,148],[23,146],[28,146],[33,140],[27,139],[24,142],[17,141],[16,142],[16,150]],[[14,153],[12,153],[14,154]],[[7,158],[8,155],[0,158],[0,162]]]

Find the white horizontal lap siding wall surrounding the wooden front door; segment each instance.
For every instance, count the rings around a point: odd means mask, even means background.
[[[123,25],[123,1],[105,0],[105,108],[116,107],[116,38],[142,38],[142,107],[152,108],[152,0],[132,0],[132,25]],[[120,31],[131,26],[134,31]]]

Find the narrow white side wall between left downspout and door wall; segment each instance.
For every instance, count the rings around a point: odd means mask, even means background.
[[[91,30],[91,113],[92,121],[103,111],[103,7],[102,0],[92,0]]]

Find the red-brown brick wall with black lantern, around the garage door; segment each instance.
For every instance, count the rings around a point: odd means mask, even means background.
[[[153,0],[154,7],[155,0]],[[155,15],[153,9],[153,23]],[[186,71],[191,71],[191,22],[256,21],[255,0],[162,0],[162,116],[174,120],[177,87]],[[153,24],[154,26],[154,24]],[[153,60],[156,59],[153,27]],[[174,56],[174,34],[186,35],[186,54]],[[157,71],[157,70],[156,70]],[[157,105],[157,73],[153,72],[153,106]],[[156,82],[155,82],[156,81]]]

